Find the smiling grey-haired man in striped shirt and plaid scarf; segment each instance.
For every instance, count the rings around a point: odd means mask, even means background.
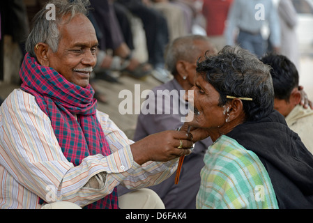
[[[190,153],[192,136],[172,130],[133,143],[99,112],[89,84],[98,40],[86,17],[88,1],[50,3],[56,20],[46,20],[45,8],[36,15],[23,84],[0,107],[0,207],[59,208],[56,201],[68,201],[61,204],[119,208],[117,185],[136,189],[165,180],[175,158]],[[142,207],[162,208],[151,203]]]

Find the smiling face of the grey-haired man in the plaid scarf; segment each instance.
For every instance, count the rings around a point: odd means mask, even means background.
[[[61,38],[57,52],[49,50],[49,67],[54,68],[69,82],[86,87],[96,65],[98,40],[89,19],[76,15],[68,23],[59,25]]]

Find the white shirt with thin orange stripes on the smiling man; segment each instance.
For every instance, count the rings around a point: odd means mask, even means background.
[[[97,111],[96,117],[111,154],[90,155],[74,166],[63,155],[51,121],[33,95],[13,91],[0,107],[0,208],[40,208],[40,197],[84,207],[119,184],[148,187],[176,170],[177,159],[139,166],[130,151],[132,141],[107,114]]]

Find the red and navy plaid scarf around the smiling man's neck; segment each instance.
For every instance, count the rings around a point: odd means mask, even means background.
[[[86,88],[72,84],[53,68],[40,66],[28,53],[20,77],[21,89],[33,95],[50,118],[56,139],[69,162],[76,166],[89,155],[110,154],[96,118],[96,99],[90,84]],[[112,194],[85,208],[119,208],[116,188]]]

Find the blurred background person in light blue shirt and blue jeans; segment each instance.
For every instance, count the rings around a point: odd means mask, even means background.
[[[267,39],[262,29],[268,24],[269,41],[274,52],[280,51],[280,21],[272,0],[234,0],[227,16],[227,45],[240,45],[252,54],[264,56]],[[238,35],[236,31],[238,30]]]

